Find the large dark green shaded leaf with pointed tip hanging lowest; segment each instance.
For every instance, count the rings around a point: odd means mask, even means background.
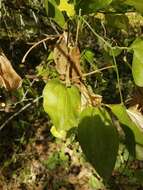
[[[118,152],[118,134],[108,112],[103,108],[83,110],[78,128],[83,153],[101,177],[112,173]]]

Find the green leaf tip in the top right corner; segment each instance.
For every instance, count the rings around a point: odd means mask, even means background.
[[[137,11],[143,14],[143,1],[142,0],[126,0],[126,4],[133,6]]]

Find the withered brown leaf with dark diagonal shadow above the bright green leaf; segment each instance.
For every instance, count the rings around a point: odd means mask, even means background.
[[[82,78],[80,51],[71,40],[64,32],[54,48],[53,57],[58,73],[66,77],[68,74],[73,82],[78,83]]]

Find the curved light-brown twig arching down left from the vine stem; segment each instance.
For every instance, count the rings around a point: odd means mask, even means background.
[[[43,40],[40,40],[39,42],[36,42],[33,46],[31,46],[31,48],[29,48],[29,50],[25,53],[23,59],[22,59],[22,63],[25,62],[26,57],[28,56],[28,54],[31,52],[32,49],[34,49],[36,46],[38,46],[39,44],[46,42],[47,40],[53,40],[55,38],[60,37],[61,35],[49,35],[48,37],[44,38]]]

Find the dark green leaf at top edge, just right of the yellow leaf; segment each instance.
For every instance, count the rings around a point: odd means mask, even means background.
[[[112,0],[76,0],[77,14],[81,9],[82,14],[94,13],[99,9],[107,7]]]

